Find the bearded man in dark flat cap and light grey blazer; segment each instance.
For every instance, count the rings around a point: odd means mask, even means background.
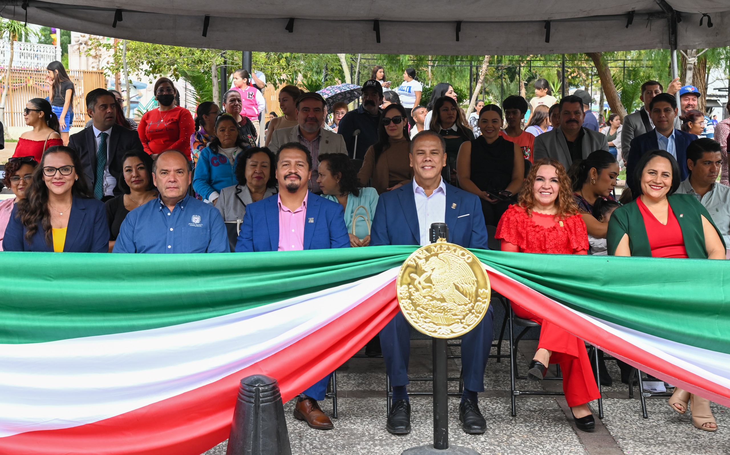
[[[333,132],[322,128],[326,102],[317,92],[304,93],[296,100],[296,121],[298,126],[277,129],[269,142],[269,148],[279,153],[279,148],[288,142],[299,142],[310,150],[312,155],[312,176],[307,186],[315,194],[322,194],[317,183],[319,178],[320,153],[347,153],[345,139]]]

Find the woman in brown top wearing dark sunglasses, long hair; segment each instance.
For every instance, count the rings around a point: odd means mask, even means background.
[[[401,104],[390,104],[380,115],[377,142],[367,149],[358,172],[361,185],[372,186],[377,194],[383,194],[410,182],[413,169],[409,148],[406,110]]]

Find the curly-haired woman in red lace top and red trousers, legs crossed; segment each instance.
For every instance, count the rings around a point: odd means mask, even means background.
[[[573,199],[570,178],[556,160],[535,161],[520,191],[518,203],[502,215],[496,235],[502,251],[521,253],[586,254],[588,233]],[[541,380],[548,364],[560,364],[563,390],[575,423],[583,431],[593,431],[596,421],[588,402],[599,399],[591,362],[583,340],[550,321],[512,305],[515,314],[542,326],[537,352],[528,377]]]

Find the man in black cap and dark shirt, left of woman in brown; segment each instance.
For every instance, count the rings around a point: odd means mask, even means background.
[[[337,134],[342,134],[350,158],[365,158],[367,149],[377,142],[377,122],[380,119],[380,104],[383,104],[383,85],[371,79],[363,84],[362,104],[351,110],[339,121]],[[357,131],[360,131],[357,133]],[[357,137],[357,150],[355,139]],[[354,156],[353,156],[354,153]]]

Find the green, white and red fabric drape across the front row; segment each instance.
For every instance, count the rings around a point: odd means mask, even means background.
[[[241,378],[290,399],[377,334],[414,249],[1,253],[0,454],[201,454]],[[512,302],[730,405],[726,261],[475,253]]]

